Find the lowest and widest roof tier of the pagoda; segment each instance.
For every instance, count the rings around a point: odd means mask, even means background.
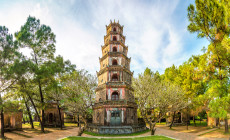
[[[135,102],[130,102],[127,100],[107,100],[107,101],[101,101],[94,104],[93,109],[99,109],[99,108],[137,108],[137,104]]]

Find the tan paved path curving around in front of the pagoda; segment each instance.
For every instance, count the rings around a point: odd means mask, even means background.
[[[209,131],[213,131],[214,129],[209,129],[207,131],[202,131],[202,133],[207,133]],[[50,133],[41,134],[41,133],[28,133],[26,131],[15,131],[14,133],[6,133],[6,137],[12,140],[57,140],[62,139],[68,136],[77,136],[79,128],[78,127],[68,127],[66,130],[55,130]],[[202,136],[198,136],[197,133],[185,133],[185,132],[178,132],[173,130],[166,130],[163,128],[157,127],[156,135],[167,136],[170,138],[178,139],[178,140],[229,140],[224,138],[205,138]],[[134,137],[144,137],[150,136],[150,132],[138,135],[138,136],[121,136],[121,137],[99,137],[99,136],[90,136],[87,134],[83,134],[84,137],[94,137],[94,138],[134,138]],[[30,138],[28,138],[30,137]]]

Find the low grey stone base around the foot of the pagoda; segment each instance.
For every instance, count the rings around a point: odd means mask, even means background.
[[[97,126],[97,125],[89,125],[88,131],[98,134],[131,134],[140,131],[146,130],[145,125],[136,125],[136,126]]]

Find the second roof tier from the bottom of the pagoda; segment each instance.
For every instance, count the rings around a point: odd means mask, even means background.
[[[123,81],[123,82],[121,82],[121,81],[106,82],[106,83],[98,86],[95,91],[97,92],[97,91],[100,91],[100,90],[105,89],[105,88],[127,88],[127,89],[133,91],[133,88],[131,87],[131,85],[125,81]]]

